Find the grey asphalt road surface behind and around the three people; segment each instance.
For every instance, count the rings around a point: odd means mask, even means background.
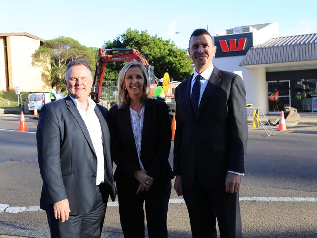
[[[32,118],[26,117],[26,124],[35,132],[37,120]],[[0,115],[0,129],[18,129],[19,120]],[[270,137],[261,129],[249,130],[240,197],[317,197],[317,126],[288,129]],[[0,130],[0,203],[39,204],[42,182],[36,157],[34,133]],[[172,191],[171,198],[179,197]],[[246,238],[317,237],[317,202],[242,201],[241,216]],[[36,231],[37,237],[48,236],[43,211],[2,212],[0,234],[8,227],[20,235],[35,236]],[[168,229],[171,238],[191,237],[185,204],[170,203]],[[117,206],[107,208],[104,230],[103,237],[123,237]]]

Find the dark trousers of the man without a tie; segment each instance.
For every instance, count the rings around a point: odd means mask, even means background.
[[[64,223],[54,218],[53,206],[46,211],[51,238],[100,238],[109,197],[107,193],[102,197],[102,193],[96,186],[91,211],[85,215],[69,215]]]

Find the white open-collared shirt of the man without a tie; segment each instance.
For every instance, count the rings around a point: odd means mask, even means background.
[[[70,95],[69,97],[74,102],[81,118],[85,122],[85,125],[89,132],[90,139],[93,143],[93,147],[97,157],[96,185],[99,185],[100,183],[104,182],[104,155],[101,125],[94,111],[96,103],[91,98],[88,98],[88,109],[86,110],[85,106],[82,103],[80,103],[77,99],[74,99]]]

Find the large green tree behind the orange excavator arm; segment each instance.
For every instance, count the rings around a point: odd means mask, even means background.
[[[104,48],[134,48],[139,50],[150,65],[154,66],[155,75],[162,78],[165,72],[176,81],[182,81],[192,73],[192,62],[187,51],[176,47],[170,40],[150,36],[146,31],[139,32],[129,28],[122,35],[112,41],[107,41]],[[115,54],[115,53],[111,53]],[[106,66],[106,79],[117,79],[124,63],[108,63]]]

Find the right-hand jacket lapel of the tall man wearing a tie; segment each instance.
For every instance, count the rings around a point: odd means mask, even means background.
[[[207,82],[207,86],[205,88],[205,91],[202,94],[202,98],[201,98],[201,101],[200,101],[200,104],[199,104],[199,108],[198,108],[198,113],[197,113],[196,119],[198,119],[198,117],[200,116],[200,114],[204,110],[204,107],[206,106],[206,104],[208,102],[208,99],[210,98],[212,93],[217,88],[217,85],[221,81],[221,79],[219,78],[220,75],[221,75],[220,71],[218,70],[218,68],[216,68],[214,66],[214,69],[213,69],[213,72],[211,73],[210,79]]]

